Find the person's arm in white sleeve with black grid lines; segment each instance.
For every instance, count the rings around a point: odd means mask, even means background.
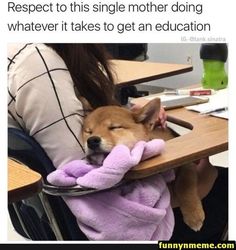
[[[81,159],[83,108],[62,59],[39,45],[21,62],[15,81],[19,122],[40,143],[54,166]]]

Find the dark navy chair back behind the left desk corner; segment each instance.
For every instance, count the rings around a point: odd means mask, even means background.
[[[55,170],[51,160],[39,143],[20,129],[8,128],[8,157],[14,158],[34,171],[40,173],[46,182],[46,176]],[[45,194],[46,195],[46,194]],[[71,213],[61,197],[46,195],[56,223],[64,240],[87,240],[80,231],[75,216]],[[19,201],[14,206],[9,204],[11,222],[16,231],[27,237],[21,223],[20,214],[27,229],[28,237],[32,240],[56,240],[50,228],[43,204],[36,196]],[[15,211],[15,210],[18,211]]]

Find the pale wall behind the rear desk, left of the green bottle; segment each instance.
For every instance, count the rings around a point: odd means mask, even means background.
[[[203,72],[200,59],[200,43],[155,43],[148,44],[148,61],[192,64],[193,71],[151,81],[148,85],[179,88],[201,82]]]

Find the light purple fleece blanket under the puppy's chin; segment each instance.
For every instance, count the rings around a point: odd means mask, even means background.
[[[132,150],[118,145],[100,167],[76,160],[49,174],[47,180],[56,186],[110,188],[141,160],[160,154],[164,145],[160,139],[140,141]],[[174,171],[168,171],[112,190],[63,198],[90,240],[168,240],[174,216],[166,183],[174,178]]]

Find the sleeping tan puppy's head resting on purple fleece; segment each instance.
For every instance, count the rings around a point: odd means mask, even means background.
[[[119,106],[95,109],[87,115],[83,125],[87,158],[100,165],[114,146],[124,144],[131,149],[140,140],[148,141],[159,111],[159,98],[138,111]]]

